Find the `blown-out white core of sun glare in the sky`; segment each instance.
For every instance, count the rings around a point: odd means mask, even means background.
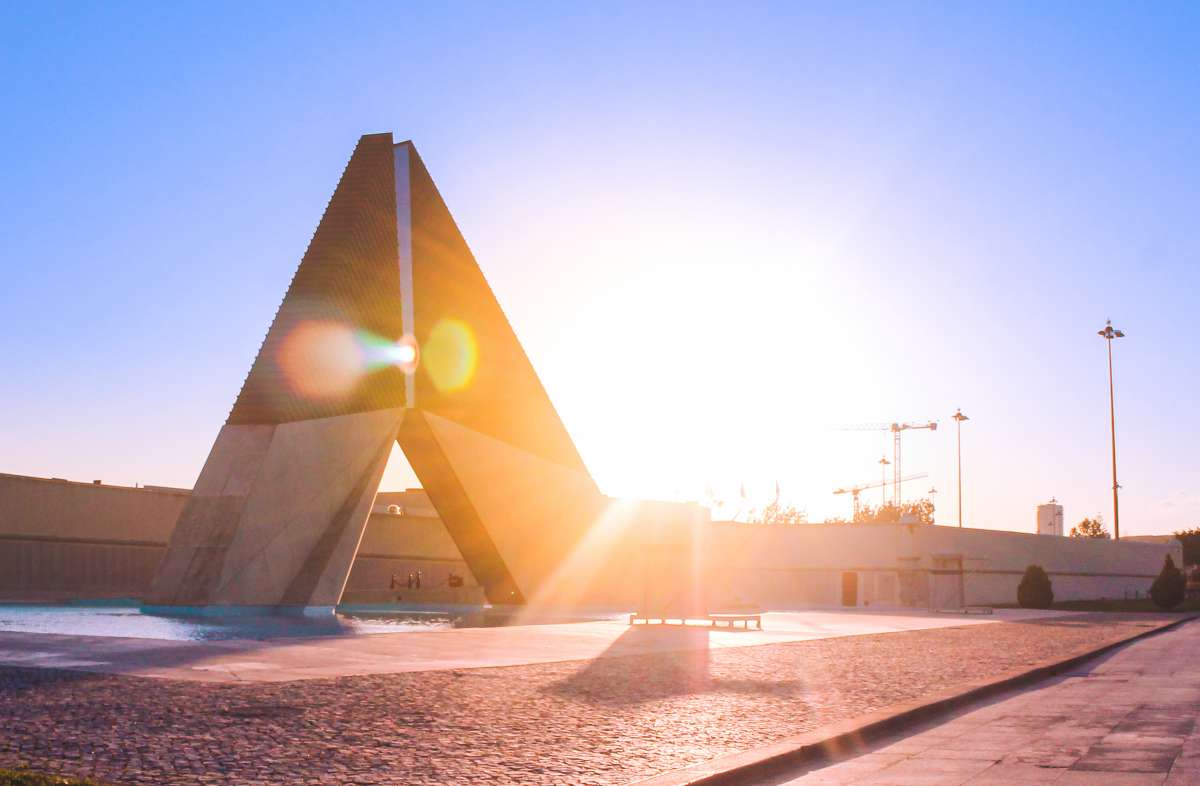
[[[886,445],[829,426],[890,412],[899,384],[863,360],[877,325],[854,307],[862,282],[816,234],[668,228],[623,236],[630,275],[593,287],[538,358],[588,468],[605,493],[718,517],[769,504],[776,481],[784,504],[840,514],[832,490],[874,478]],[[581,264],[617,253],[588,240],[599,251]]]

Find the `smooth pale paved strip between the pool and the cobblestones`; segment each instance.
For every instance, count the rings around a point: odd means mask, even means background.
[[[686,630],[652,625],[631,631],[628,617],[622,616],[565,624],[200,642],[0,631],[0,665],[204,682],[278,682],[750,647],[1051,616],[1061,612],[775,612],[764,614],[762,630],[732,631],[700,625]]]

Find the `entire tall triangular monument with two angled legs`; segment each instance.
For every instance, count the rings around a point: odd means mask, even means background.
[[[146,605],[337,604],[394,440],[492,602],[606,582],[606,550],[581,550],[610,505],[416,150],[370,134]]]

